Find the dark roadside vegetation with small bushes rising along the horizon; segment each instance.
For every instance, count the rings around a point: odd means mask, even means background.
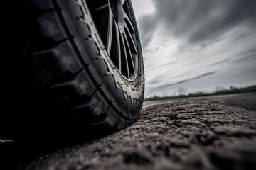
[[[202,91],[198,91],[196,93],[189,93],[186,94],[186,89],[180,88],[178,89],[179,95],[178,96],[156,96],[145,98],[144,101],[156,101],[156,100],[167,100],[167,99],[176,99],[176,98],[191,98],[191,97],[201,97],[201,96],[213,96],[213,95],[220,95],[220,94],[238,94],[238,93],[246,93],[246,92],[253,92],[256,91],[256,86],[250,86],[246,88],[236,88],[234,86],[230,86],[230,89],[223,89],[222,87],[217,86],[216,91],[213,93],[205,93]]]

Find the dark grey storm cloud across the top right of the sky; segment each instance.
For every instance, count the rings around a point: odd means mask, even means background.
[[[149,44],[154,33],[188,42],[218,38],[240,24],[256,25],[255,0],[152,0],[155,13],[139,20],[142,44]]]

